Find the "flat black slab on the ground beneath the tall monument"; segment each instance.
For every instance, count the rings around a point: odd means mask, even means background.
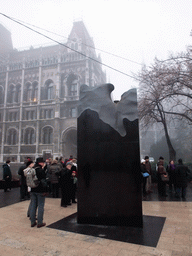
[[[85,235],[84,241],[105,238],[114,241],[156,247],[165,223],[165,217],[143,215],[143,228],[78,224],[77,213],[52,223],[48,228]],[[61,234],[65,237],[65,233]],[[90,236],[90,237],[88,237]]]

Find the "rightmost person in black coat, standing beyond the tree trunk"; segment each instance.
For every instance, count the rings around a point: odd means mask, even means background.
[[[186,188],[188,183],[188,175],[190,171],[187,166],[183,164],[182,159],[178,160],[178,165],[175,169],[175,184],[176,184],[176,197],[179,198],[180,194],[182,198],[186,197]],[[181,193],[182,192],[182,193]]]

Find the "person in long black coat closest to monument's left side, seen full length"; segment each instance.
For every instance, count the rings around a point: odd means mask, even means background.
[[[60,176],[60,185],[61,185],[61,207],[67,207],[71,205],[71,191],[72,191],[72,162],[66,163],[66,167],[61,169],[59,176]]]

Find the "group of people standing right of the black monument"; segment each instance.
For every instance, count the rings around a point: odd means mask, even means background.
[[[146,194],[153,192],[151,189],[152,169],[148,156],[141,160],[141,173],[143,176],[143,195],[145,197]],[[167,187],[169,187],[169,192],[174,192],[176,198],[182,197],[185,199],[186,188],[189,182],[189,174],[190,170],[183,164],[181,158],[178,160],[177,165],[173,160],[171,160],[165,168],[164,158],[160,156],[156,165],[156,177],[159,195],[162,197],[167,197],[168,195],[166,190]]]

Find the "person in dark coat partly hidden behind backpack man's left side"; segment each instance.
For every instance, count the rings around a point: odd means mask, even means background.
[[[27,167],[27,162],[31,161],[31,160],[26,160],[25,164],[19,167],[18,170],[18,174],[20,175],[20,182],[21,182],[21,186],[20,186],[20,200],[23,201],[25,200],[25,197],[27,197],[27,199],[30,199],[30,194],[28,192],[28,188],[27,188],[27,184],[26,184],[26,177],[24,175],[23,170]]]

